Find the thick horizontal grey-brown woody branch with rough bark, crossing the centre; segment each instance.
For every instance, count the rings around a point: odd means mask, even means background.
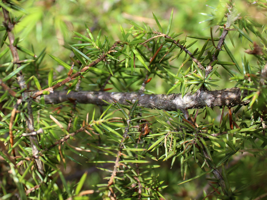
[[[237,87],[204,91],[198,90],[195,94],[187,93],[182,98],[182,94],[140,94],[140,93],[123,93],[123,92],[105,92],[105,91],[71,91],[68,95],[67,91],[54,91],[49,95],[44,95],[46,103],[57,104],[69,99],[75,100],[78,103],[92,103],[96,105],[107,105],[107,102],[116,100],[120,104],[128,105],[125,100],[131,101],[138,99],[138,105],[151,109],[163,109],[168,111],[177,111],[177,109],[193,109],[214,106],[237,106],[246,105],[248,101],[241,101],[241,90]],[[246,96],[246,91],[243,96]]]

